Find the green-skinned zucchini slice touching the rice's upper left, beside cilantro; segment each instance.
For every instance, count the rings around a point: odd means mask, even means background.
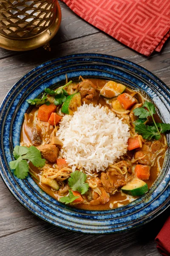
[[[67,97],[62,104],[61,112],[67,115],[73,115],[77,108],[82,105],[82,98],[80,93],[74,93]]]

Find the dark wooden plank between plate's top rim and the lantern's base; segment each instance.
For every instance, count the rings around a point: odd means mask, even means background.
[[[170,86],[170,41],[167,43],[166,47],[164,47],[161,55],[156,53],[150,58],[147,58],[100,32],[95,35],[89,35],[65,43],[54,44],[52,45],[51,52],[46,52],[44,49],[39,48],[32,52],[23,52],[20,55],[1,59],[0,100],[3,99],[6,92],[18,79],[20,79],[21,76],[38,64],[48,61],[51,58],[80,52],[111,54],[128,59],[129,61],[134,61],[136,64],[140,64],[142,67],[145,67],[155,75],[159,76],[162,81]]]

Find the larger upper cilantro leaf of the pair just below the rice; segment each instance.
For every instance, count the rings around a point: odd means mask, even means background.
[[[88,191],[88,183],[85,183],[87,176],[83,172],[75,171],[71,173],[68,179],[68,185],[73,191],[78,191],[80,194],[85,194]]]

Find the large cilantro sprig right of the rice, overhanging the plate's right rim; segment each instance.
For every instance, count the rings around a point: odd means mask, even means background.
[[[151,102],[145,101],[142,108],[135,108],[133,113],[135,116],[139,116],[139,119],[133,122],[135,125],[135,131],[138,134],[141,134],[146,140],[160,140],[161,133],[170,131],[170,124],[155,122],[153,115],[156,113],[156,110],[155,106]],[[152,117],[153,123],[145,125],[144,122],[147,120],[148,116]]]

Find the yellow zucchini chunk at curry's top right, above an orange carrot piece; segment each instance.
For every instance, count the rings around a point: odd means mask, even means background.
[[[119,96],[121,93],[124,92],[126,86],[123,84],[118,84],[114,81],[108,81],[105,86],[100,91],[100,95],[111,99],[113,97]]]

